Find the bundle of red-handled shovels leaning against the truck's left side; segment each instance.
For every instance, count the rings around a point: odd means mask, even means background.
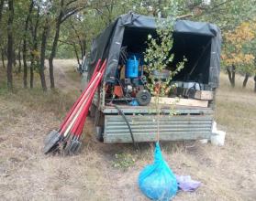
[[[76,100],[72,109],[67,113],[58,131],[51,131],[45,138],[44,153],[62,152],[65,154],[77,153],[81,147],[81,135],[88,115],[89,108],[103,78],[106,69],[106,60],[99,59],[92,79]]]

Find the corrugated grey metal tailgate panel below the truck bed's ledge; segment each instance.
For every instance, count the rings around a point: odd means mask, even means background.
[[[157,118],[153,115],[126,115],[135,142],[155,142]],[[163,115],[160,120],[160,140],[180,141],[209,139],[212,115]],[[131,143],[127,123],[121,115],[105,115],[104,143]]]

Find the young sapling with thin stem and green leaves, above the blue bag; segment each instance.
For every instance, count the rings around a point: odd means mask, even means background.
[[[171,49],[173,48],[173,25],[175,17],[170,16],[167,19],[157,20],[157,37],[148,36],[148,48],[146,49],[145,62],[148,64],[148,83],[147,87],[150,90],[152,96],[154,96],[154,106],[157,113],[157,142],[159,142],[159,127],[161,118],[161,103],[160,97],[168,96],[170,91],[175,88],[171,84],[173,77],[184,68],[184,62],[179,62],[175,69],[167,71],[165,73],[165,78],[161,79],[161,76],[155,76],[156,74],[161,75],[168,68],[173,61],[173,53]],[[174,104],[174,103],[173,103]],[[173,106],[170,107],[170,115],[175,113],[173,111]]]

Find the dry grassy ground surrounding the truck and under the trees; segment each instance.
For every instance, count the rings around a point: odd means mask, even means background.
[[[148,143],[140,144],[139,152],[131,144],[99,143],[88,119],[82,153],[69,157],[42,153],[44,137],[58,127],[79,94],[75,61],[56,60],[55,65],[59,88],[55,92],[17,86],[9,94],[0,76],[0,200],[148,200],[137,185],[139,171],[152,162],[153,147]],[[20,76],[15,80],[21,82]],[[218,129],[227,132],[225,146],[161,143],[175,174],[202,182],[194,193],[179,192],[174,201],[256,200],[253,83],[247,90],[239,86],[232,90],[227,75],[221,74],[220,80],[216,120]]]

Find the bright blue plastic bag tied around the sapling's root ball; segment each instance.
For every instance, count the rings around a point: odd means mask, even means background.
[[[159,143],[156,143],[154,163],[139,174],[139,189],[152,200],[169,201],[177,193],[176,177],[163,160]]]

